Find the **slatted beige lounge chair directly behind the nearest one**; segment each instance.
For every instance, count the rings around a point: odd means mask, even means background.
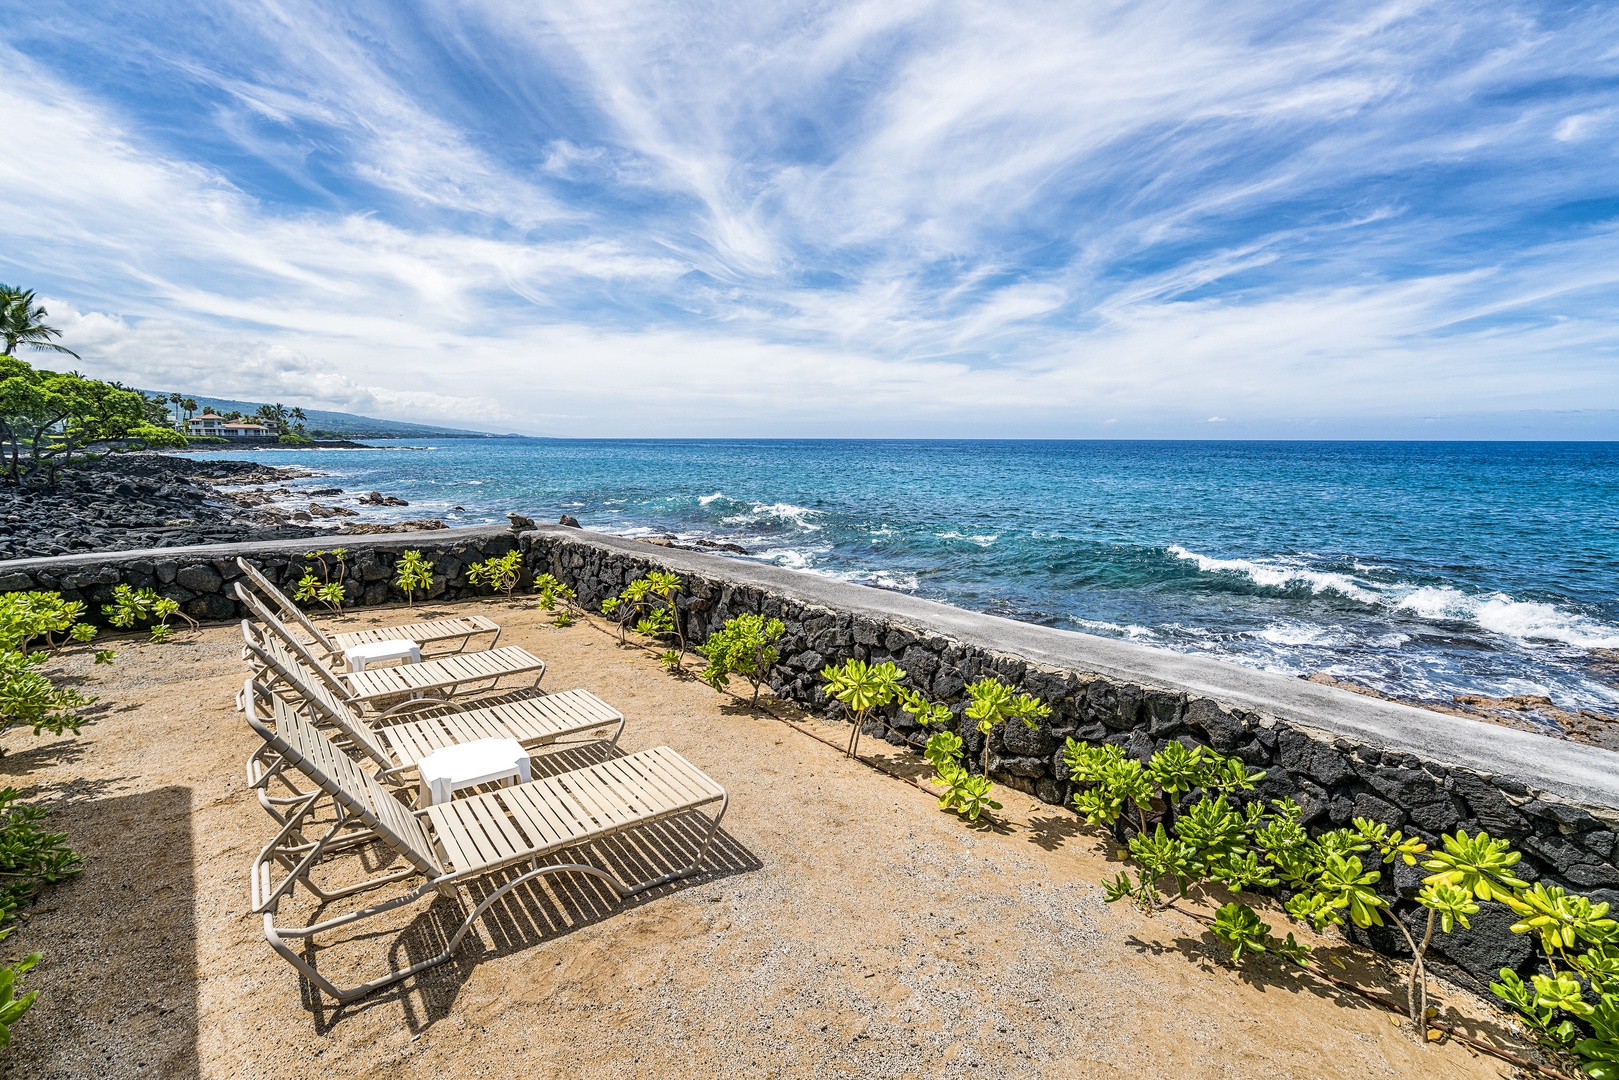
[[[382,780],[413,772],[423,758],[445,746],[479,738],[512,738],[533,750],[609,725],[614,729],[609,745],[617,746],[623,733],[623,712],[589,690],[562,690],[484,708],[413,698],[395,706],[392,714],[368,721],[275,635],[259,635],[249,627],[246,641],[256,665],[274,677],[272,685],[290,691],[282,696],[316,724],[340,730],[377,764]],[[427,711],[431,716],[413,716]],[[249,782],[254,782],[251,774]]]

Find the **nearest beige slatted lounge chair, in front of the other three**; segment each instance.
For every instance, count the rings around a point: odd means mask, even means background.
[[[248,706],[248,724],[264,738],[267,753],[303,772],[317,789],[290,810],[287,824],[253,860],[253,913],[264,916],[264,939],[270,947],[338,1002],[355,1001],[444,963],[479,915],[508,891],[541,874],[591,874],[627,897],[698,873],[708,860],[720,818],[725,816],[725,789],[669,746],[411,811],[285,701],[266,695],[262,688],[256,690],[253,680],[243,687],[241,696]],[[257,711],[257,703],[266,698],[272,722]],[[311,840],[308,834],[317,827],[314,811],[327,798],[335,819],[319,839]],[[719,803],[719,813],[709,823],[696,858],[672,873],[625,884],[615,874],[583,861],[583,852],[573,855],[581,861],[539,861],[714,803]],[[338,889],[322,889],[311,881],[312,871],[327,855],[345,845],[353,847],[361,837],[390,847],[408,866]],[[515,876],[504,873],[520,866],[526,870]],[[277,871],[282,873],[280,881],[275,879]],[[298,884],[325,904],[416,874],[426,879],[421,886],[382,904],[308,926],[275,923],[280,902]],[[460,900],[461,886],[489,878],[494,878],[489,881],[491,892],[466,915],[444,952],[359,986],[345,989],[334,984],[285,941],[312,939],[329,929],[411,904],[432,891]],[[463,902],[463,910],[465,907]]]

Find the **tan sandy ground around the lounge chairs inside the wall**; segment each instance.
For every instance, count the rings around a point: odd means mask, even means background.
[[[712,873],[622,904],[578,876],[520,887],[455,962],[334,1007],[246,910],[272,827],[243,779],[256,740],[232,706],[236,631],[123,641],[110,669],[66,656],[58,669],[104,711],[78,738],[13,733],[0,758],[0,782],[50,800],[86,863],[5,944],[47,954],[39,1004],[0,1052],[6,1075],[1511,1075],[1455,1043],[1420,1048],[1383,1010],[1271,960],[1234,972],[1182,915],[1104,905],[1096,882],[1115,866],[1069,811],[1005,792],[997,823],[968,827],[599,628],[478,609],[507,627],[502,644],[546,657],[547,688],[623,709],[625,750],[670,745],[729,789]],[[356,622],[380,620],[406,612]],[[562,753],[550,767],[597,750]],[[677,824],[597,857],[656,861],[688,842]],[[431,955],[458,918],[421,900],[338,934],[317,963],[369,978]],[[1363,984],[1392,988],[1375,959],[1326,944]],[[1478,999],[1441,989],[1439,1007],[1522,1049]]]

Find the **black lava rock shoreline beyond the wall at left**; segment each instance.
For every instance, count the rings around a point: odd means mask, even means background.
[[[342,489],[288,487],[316,476],[295,466],[189,455],[108,457],[63,474],[55,489],[0,487],[0,560],[445,528],[432,518],[353,521],[358,510],[319,502]],[[293,500],[308,502],[288,508]],[[359,502],[408,505],[379,492]]]

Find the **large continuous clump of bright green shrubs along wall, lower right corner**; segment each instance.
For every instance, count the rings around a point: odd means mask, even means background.
[[[1392,926],[1410,949],[1405,1010],[1413,1035],[1423,1041],[1426,954],[1434,934],[1467,931],[1480,904],[1504,904],[1519,916],[1514,933],[1540,938],[1553,975],[1525,983],[1502,968],[1491,989],[1548,1044],[1579,1057],[1588,1075],[1619,1080],[1619,921],[1608,918],[1608,904],[1515,876],[1512,868],[1522,853],[1506,840],[1459,831],[1443,837],[1443,850],[1428,850],[1421,839],[1365,818],[1311,837],[1292,800],[1274,800],[1269,808],[1258,801],[1234,805],[1232,797],[1251,790],[1264,774],[1201,746],[1169,743],[1141,763],[1117,746],[1070,738],[1064,759],[1070,779],[1083,785],[1073,795],[1075,810],[1091,824],[1112,826],[1115,836],[1120,821],[1135,831],[1128,840],[1135,876],[1120,873],[1104,882],[1106,900],[1128,899],[1156,912],[1205,882],[1219,882],[1234,894],[1285,886],[1287,915],[1316,931]],[[1200,795],[1177,813],[1177,801],[1188,793]],[[1421,861],[1430,871],[1412,897],[1425,910],[1420,934],[1389,910],[1389,900],[1376,889],[1383,878],[1378,865],[1396,860],[1407,866]],[[1172,884],[1167,897],[1166,884]],[[1274,938],[1240,902],[1219,908],[1211,933],[1230,947],[1234,963],[1258,952],[1308,963],[1305,946],[1290,933],[1285,939]]]

